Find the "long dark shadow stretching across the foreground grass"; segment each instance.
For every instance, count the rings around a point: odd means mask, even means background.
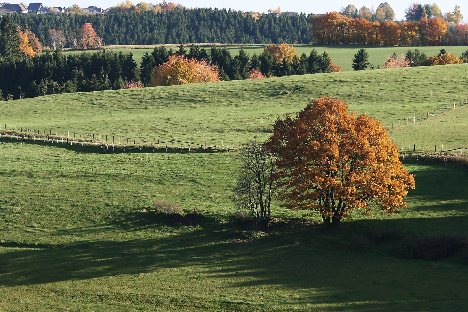
[[[278,305],[314,303],[326,311],[425,311],[441,308],[449,300],[454,305],[468,300],[464,291],[468,277],[460,276],[457,269],[397,259],[384,247],[368,253],[351,252],[348,247],[355,229],[403,229],[416,221],[422,228],[456,224],[457,232],[466,232],[468,216],[366,220],[351,222],[340,232],[305,228],[271,234],[259,241],[239,239],[228,232],[195,230],[158,239],[18,249],[1,254],[0,284],[53,283],[190,267],[197,268],[196,273],[183,278],[203,283],[216,279],[223,288],[248,287],[253,295],[266,296]],[[270,289],[272,285],[303,292],[303,296],[281,303],[278,293]],[[181,287],[180,291],[188,291]],[[437,290],[435,301],[434,287],[444,290]],[[230,309],[227,302],[226,310]]]

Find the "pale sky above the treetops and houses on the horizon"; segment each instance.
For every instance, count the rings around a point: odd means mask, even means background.
[[[138,0],[134,0],[138,1]],[[145,0],[147,2],[151,2],[152,0]],[[380,0],[385,2],[384,0]],[[432,0],[434,1],[434,0]],[[103,7],[106,9],[107,7],[117,5],[118,1],[115,0],[47,0],[44,2],[43,5],[46,6],[64,6],[69,7],[73,4],[79,4],[80,7],[88,7],[94,5],[96,7]],[[162,2],[162,0],[154,1]],[[382,2],[369,2],[367,0],[364,1],[350,1],[350,0],[332,0],[332,1],[279,1],[279,0],[258,0],[258,1],[251,1],[251,0],[237,0],[237,1],[217,1],[217,0],[175,0],[175,2],[179,2],[186,7],[219,7],[219,8],[232,8],[234,10],[241,10],[242,12],[246,11],[258,11],[258,12],[266,12],[269,8],[277,8],[281,7],[281,11],[291,11],[291,12],[304,12],[306,14],[314,13],[314,14],[323,14],[326,12],[331,11],[339,11],[341,7],[346,7],[348,4],[352,4],[357,8],[362,6],[377,8],[380,3]],[[411,1],[411,0],[388,0],[388,4],[393,8],[395,11],[395,18],[397,20],[404,19],[404,12],[405,9],[409,6],[411,2],[419,2],[419,1]],[[428,1],[429,2],[429,1]],[[424,1],[421,1],[424,4]],[[432,3],[432,2],[430,2]],[[463,14],[464,21],[468,21],[468,1],[467,0],[444,0],[436,2],[439,5],[440,10],[442,13],[452,12],[453,7],[458,4],[461,8],[461,14]]]

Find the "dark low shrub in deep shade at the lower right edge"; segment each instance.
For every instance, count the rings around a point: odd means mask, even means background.
[[[440,260],[467,246],[463,235],[412,237],[402,241],[398,254],[406,259]]]

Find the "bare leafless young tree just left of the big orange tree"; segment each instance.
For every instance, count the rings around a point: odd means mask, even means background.
[[[233,189],[236,206],[250,211],[255,229],[266,228],[271,222],[271,200],[277,191],[276,156],[251,141],[242,148],[239,160],[241,167]]]

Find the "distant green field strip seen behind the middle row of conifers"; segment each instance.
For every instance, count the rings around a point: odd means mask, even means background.
[[[227,47],[227,50],[231,52],[231,55],[237,54],[241,47]],[[311,44],[294,44],[294,49],[296,49],[297,54],[300,56],[302,53],[306,53],[307,56],[309,55],[312,49],[316,49],[319,53],[323,53],[323,51],[327,51],[329,56],[333,58],[333,63],[335,65],[340,65],[344,72],[346,71],[353,71],[351,67],[352,59],[354,58],[354,54],[357,53],[358,49],[365,48],[367,53],[369,54],[369,61],[377,66],[383,66],[383,63],[388,55],[396,54],[405,54],[408,50],[418,49],[427,54],[427,56],[431,56],[432,54],[438,54],[440,49],[446,49],[447,53],[453,53],[455,56],[460,57],[461,53],[467,50],[465,46],[442,46],[442,47],[385,47],[385,46],[367,46],[367,45],[311,45]],[[209,49],[209,48],[205,48]],[[263,53],[263,47],[259,46],[245,46],[243,47],[244,50],[247,51],[249,55],[256,53],[257,55]],[[141,62],[141,58],[145,52],[151,53],[153,49],[150,48],[135,48],[135,49],[123,49],[117,48],[112,49],[113,51],[117,52],[132,52],[133,58],[139,64]],[[177,50],[177,49],[175,49]],[[186,48],[188,50],[188,48]],[[64,51],[64,54],[69,53],[80,53],[80,51]]]

